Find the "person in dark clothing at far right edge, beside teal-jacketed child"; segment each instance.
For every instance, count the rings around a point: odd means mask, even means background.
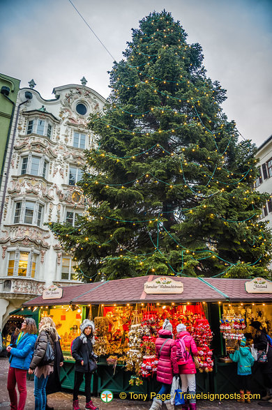
[[[264,375],[264,386],[266,386],[266,396],[262,397],[262,400],[269,400],[272,403],[272,347],[269,345],[269,340],[266,337],[266,331],[261,329],[260,321],[252,321],[250,324],[255,329],[255,337],[253,337],[254,347],[257,350],[266,351],[267,359],[266,363],[259,363],[262,368],[262,374]]]

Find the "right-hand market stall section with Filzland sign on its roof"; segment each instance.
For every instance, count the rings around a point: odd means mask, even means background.
[[[215,393],[233,393],[239,381],[237,365],[229,354],[236,349],[241,337],[252,342],[252,321],[260,321],[267,333],[272,333],[272,282],[263,278],[253,280],[207,278],[212,286],[227,296],[227,301],[211,304],[211,326],[214,329],[213,389]],[[219,328],[216,328],[216,322]],[[252,393],[265,390],[262,367],[255,363],[251,377]]]

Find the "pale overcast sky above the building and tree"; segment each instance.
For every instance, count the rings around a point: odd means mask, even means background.
[[[204,52],[207,75],[227,89],[223,109],[257,146],[272,134],[272,0],[71,0],[116,61],[131,29],[165,8]],[[112,57],[69,0],[0,0],[0,73],[30,79],[43,98],[80,84],[109,95]]]

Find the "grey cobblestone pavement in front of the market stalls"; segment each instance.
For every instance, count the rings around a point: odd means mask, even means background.
[[[8,390],[6,389],[6,381],[8,374],[8,359],[0,358],[0,410],[10,409],[8,400]],[[33,396],[33,381],[27,381],[27,404],[26,410],[34,410],[34,396]],[[103,403],[100,397],[93,397],[93,403],[99,407],[100,410],[149,410],[151,402],[141,402],[133,400],[120,400],[114,398],[110,403]],[[80,396],[80,408],[84,410],[84,396]],[[72,409],[72,394],[70,391],[54,393],[48,396],[48,404],[54,407],[54,410],[66,410]],[[266,404],[266,403],[262,403]],[[267,403],[268,404],[268,403]],[[180,408],[180,407],[179,407]],[[224,409],[224,410],[261,410],[257,400],[252,401],[250,404],[238,403],[234,400],[222,400],[219,402],[215,400],[213,402],[208,400],[197,401],[198,410],[209,410],[209,409]],[[269,407],[265,407],[268,408]],[[272,409],[272,404],[270,405]],[[165,410],[163,407],[162,410]]]

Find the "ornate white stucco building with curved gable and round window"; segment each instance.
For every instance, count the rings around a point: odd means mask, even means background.
[[[43,224],[74,224],[76,214],[84,211],[75,184],[84,149],[94,144],[86,124],[89,114],[105,104],[84,78],[82,85],[56,87],[52,100],[29,85],[18,93],[1,198],[1,329],[11,311],[52,282],[75,283],[72,258]]]

